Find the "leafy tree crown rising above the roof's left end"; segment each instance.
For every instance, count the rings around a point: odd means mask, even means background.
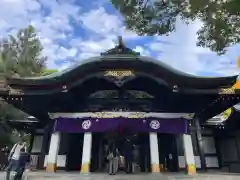
[[[16,36],[2,39],[0,44],[3,74],[6,77],[30,77],[39,75],[45,68],[46,57],[35,29],[29,26]]]

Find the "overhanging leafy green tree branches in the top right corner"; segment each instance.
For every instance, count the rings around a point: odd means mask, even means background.
[[[197,45],[219,54],[240,42],[239,0],[111,0],[126,26],[139,35],[164,35],[175,30],[177,17],[203,22]]]

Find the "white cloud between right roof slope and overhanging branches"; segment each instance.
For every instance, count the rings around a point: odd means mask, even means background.
[[[229,76],[239,73],[233,61],[238,57],[240,46],[229,48],[223,56],[217,56],[207,48],[197,47],[196,33],[201,25],[200,21],[186,25],[177,20],[175,32],[169,36],[156,36],[148,47],[160,61],[190,74],[206,72]]]

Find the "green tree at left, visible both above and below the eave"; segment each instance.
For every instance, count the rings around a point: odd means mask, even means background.
[[[10,77],[39,76],[46,71],[46,57],[42,55],[43,47],[32,26],[19,30],[16,36],[10,35],[0,43],[0,81]],[[22,119],[28,115],[24,112],[0,100],[0,126],[6,132],[0,135],[3,142],[10,137],[11,129],[7,126],[7,120]],[[1,140],[2,139],[2,140]]]

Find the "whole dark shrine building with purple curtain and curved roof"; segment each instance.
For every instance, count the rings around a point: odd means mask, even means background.
[[[224,123],[239,103],[238,86],[237,76],[186,74],[120,38],[62,72],[5,79],[0,96],[37,119],[11,123],[32,134],[37,169],[105,172],[109,142],[122,156],[130,141],[139,152],[136,172],[196,174],[224,164],[219,146],[237,132]]]

